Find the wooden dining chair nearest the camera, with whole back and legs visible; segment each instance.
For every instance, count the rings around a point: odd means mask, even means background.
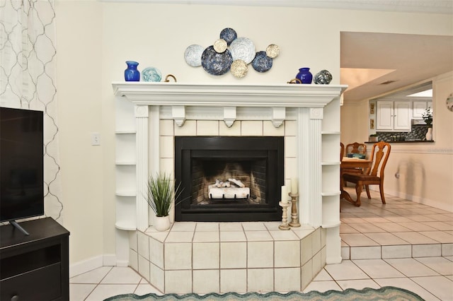
[[[371,151],[372,166],[365,172],[364,175],[357,173],[343,173],[343,180],[355,184],[355,192],[357,193],[357,200],[355,206],[360,206],[360,194],[365,185],[367,190],[368,199],[371,199],[369,194],[369,185],[379,185],[379,192],[381,194],[381,201],[385,203],[384,196],[384,170],[387,160],[390,155],[390,143],[381,141],[373,144]]]

